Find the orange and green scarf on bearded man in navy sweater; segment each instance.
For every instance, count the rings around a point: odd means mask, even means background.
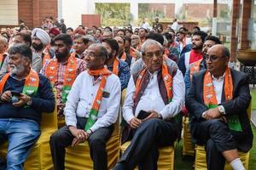
[[[8,80],[9,76],[10,76],[10,73],[7,73],[6,75],[3,76],[2,80],[0,81],[0,94],[3,93],[5,82]],[[36,95],[38,92],[38,86],[39,86],[38,73],[31,69],[25,79],[25,84],[23,87],[22,94],[26,94],[29,96]]]

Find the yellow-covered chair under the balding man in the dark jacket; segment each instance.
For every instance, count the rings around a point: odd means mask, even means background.
[[[251,119],[252,114],[252,100],[247,108],[247,115],[249,119]],[[239,152],[239,157],[241,159],[241,162],[243,166],[248,169],[249,167],[249,152]],[[228,162],[225,163],[225,170],[232,170],[232,167],[230,167],[230,164]],[[207,158],[206,158],[206,151],[205,146],[196,145],[195,146],[195,170],[207,170]]]

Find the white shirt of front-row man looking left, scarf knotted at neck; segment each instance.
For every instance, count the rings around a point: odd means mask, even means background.
[[[87,71],[84,71],[80,73],[73,82],[71,91],[67,96],[67,103],[64,110],[67,126],[77,127],[76,116],[89,117],[90,109],[96,97],[101,79],[102,77],[99,77],[95,81],[94,77],[90,76]],[[102,98],[97,116],[98,119],[94,125],[90,127],[92,132],[95,132],[100,127],[108,127],[117,120],[121,99],[119,77],[114,74],[108,76],[104,92],[107,92],[109,97]]]

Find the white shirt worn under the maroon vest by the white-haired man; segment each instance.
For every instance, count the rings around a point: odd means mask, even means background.
[[[126,90],[126,97],[123,106],[123,116],[126,122],[130,122],[131,119],[134,117],[132,108],[134,106],[133,95],[135,93],[135,90],[136,88],[133,77],[131,77]],[[154,72],[154,74],[151,74],[148,82],[148,87],[145,89],[143,96],[138,102],[135,116],[137,116],[137,114],[141,110],[157,111],[161,114],[163,119],[176,116],[177,113],[181,111],[185,98],[185,85],[183,74],[179,70],[177,70],[175,77],[173,77],[172,90],[172,102],[168,105],[165,105],[160,95],[160,90],[157,82],[157,71]]]

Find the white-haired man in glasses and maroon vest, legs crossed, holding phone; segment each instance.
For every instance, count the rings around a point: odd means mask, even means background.
[[[145,69],[131,77],[123,106],[128,123],[122,142],[131,144],[121,156],[117,169],[157,169],[158,148],[172,145],[180,129],[176,116],[184,101],[185,87],[182,72],[166,65],[159,42],[147,40],[142,45]],[[146,118],[137,116],[145,114]]]

